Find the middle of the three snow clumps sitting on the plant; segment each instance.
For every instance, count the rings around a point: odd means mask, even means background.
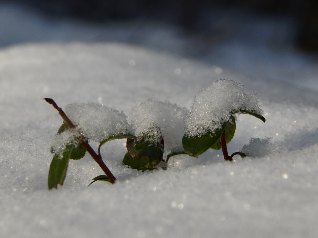
[[[154,143],[163,137],[165,150],[183,151],[184,120],[188,114],[188,109],[177,104],[148,99],[131,109],[132,134]]]

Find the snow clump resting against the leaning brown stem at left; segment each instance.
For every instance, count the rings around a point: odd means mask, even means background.
[[[123,112],[97,103],[66,106],[66,115],[88,139],[101,142],[113,135],[127,134],[127,117]]]

